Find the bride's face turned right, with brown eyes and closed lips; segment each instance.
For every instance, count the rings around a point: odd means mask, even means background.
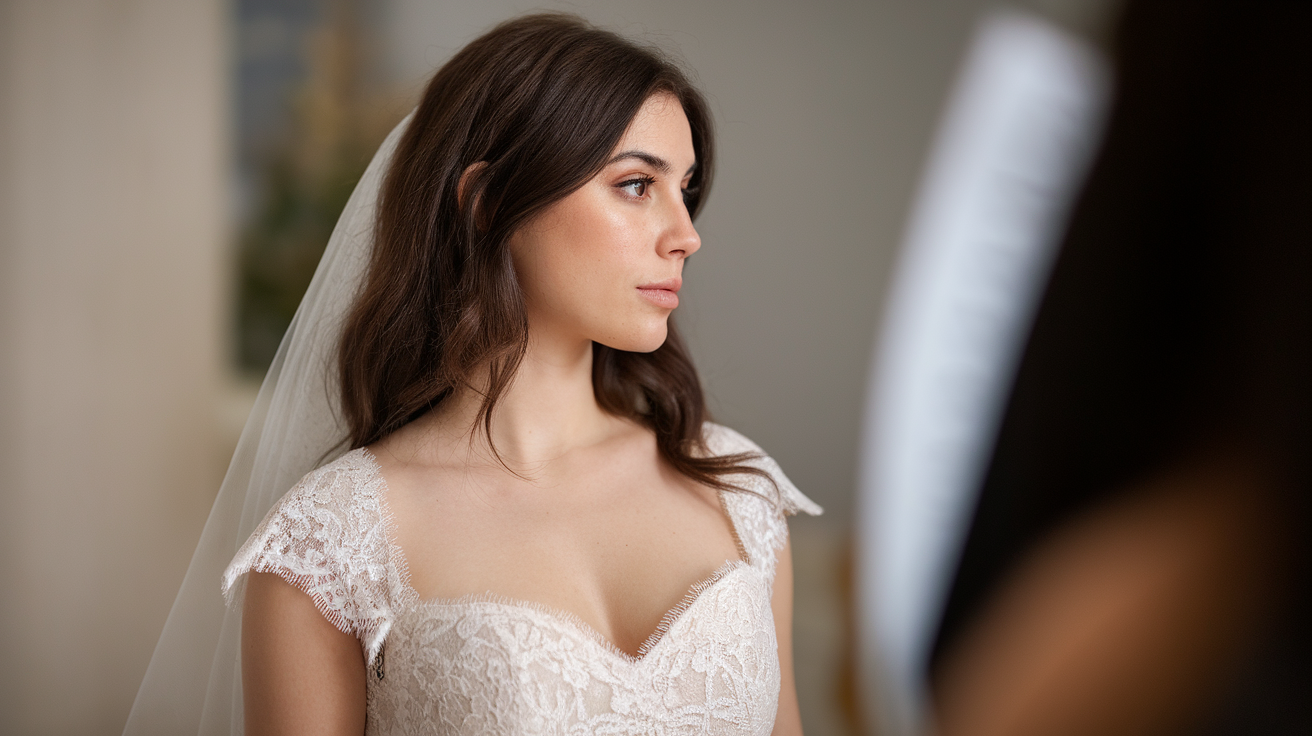
[[[684,260],[701,247],[684,206],[697,159],[678,100],[643,104],[601,173],[510,239],[534,340],[647,353],[665,342]]]

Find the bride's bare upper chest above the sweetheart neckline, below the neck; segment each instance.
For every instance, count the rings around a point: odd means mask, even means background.
[[[421,600],[534,601],[636,651],[690,588],[741,555],[714,492],[656,468],[609,470],[547,483],[502,472],[392,484],[412,588]]]

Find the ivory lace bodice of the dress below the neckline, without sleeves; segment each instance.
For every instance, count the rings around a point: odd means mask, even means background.
[[[567,613],[412,601],[367,673],[369,733],[769,733],[779,691],[770,576],[729,565],[642,656]]]

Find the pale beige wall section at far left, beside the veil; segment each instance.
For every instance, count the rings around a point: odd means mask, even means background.
[[[0,732],[117,733],[219,480],[219,0],[0,7]]]

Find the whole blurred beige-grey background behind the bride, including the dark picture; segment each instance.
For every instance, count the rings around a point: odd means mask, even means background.
[[[1097,38],[1109,3],[1013,5]],[[354,177],[433,70],[535,8],[657,43],[711,101],[719,176],[678,319],[718,419],[827,508],[794,523],[798,686],[808,733],[851,732],[866,366],[939,106],[993,5],[4,0],[0,732],[121,729]]]

